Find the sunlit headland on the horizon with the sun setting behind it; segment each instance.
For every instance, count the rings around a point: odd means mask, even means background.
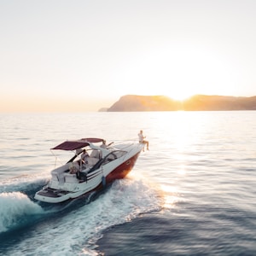
[[[256,96],[206,96],[195,95],[185,101],[174,101],[167,96],[121,96],[108,112],[129,111],[213,111],[256,110]]]

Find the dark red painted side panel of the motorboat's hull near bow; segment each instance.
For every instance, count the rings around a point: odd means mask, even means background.
[[[129,160],[126,160],[125,163],[123,163],[122,165],[115,168],[112,172],[110,172],[106,177],[106,183],[112,183],[115,179],[124,178],[129,172],[131,172],[131,169],[135,165],[139,154],[140,152],[138,152]]]

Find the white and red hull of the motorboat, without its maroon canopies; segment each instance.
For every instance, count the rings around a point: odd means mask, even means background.
[[[75,174],[70,173],[70,163],[58,167],[51,172],[51,180],[36,193],[35,199],[48,203],[61,203],[90,191],[102,189],[106,183],[123,178],[131,171],[142,148],[143,144],[133,143],[121,149],[104,149],[108,150],[103,152],[104,157],[97,160],[90,157],[89,160],[94,165],[87,166]]]

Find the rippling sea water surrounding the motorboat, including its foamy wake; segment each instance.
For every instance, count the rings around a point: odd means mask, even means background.
[[[141,129],[149,151],[125,179],[65,206],[33,199],[49,148]],[[256,255],[255,131],[255,111],[2,113],[0,255]]]

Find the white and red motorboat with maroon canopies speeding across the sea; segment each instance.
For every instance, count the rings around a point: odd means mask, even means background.
[[[51,171],[49,183],[34,198],[61,203],[102,189],[131,172],[143,146],[134,142],[107,146],[102,138],[65,141],[51,150],[73,151],[73,157]],[[85,161],[81,160],[84,149],[88,153]]]

